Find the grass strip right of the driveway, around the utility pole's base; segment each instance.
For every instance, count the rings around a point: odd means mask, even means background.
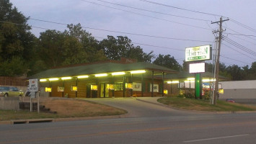
[[[187,98],[181,98],[177,96],[161,98],[161,99],[158,99],[158,102],[169,105],[170,107],[198,110],[198,111],[209,111],[209,112],[256,111],[256,107],[245,105],[245,104],[217,101],[216,105],[213,105],[213,104],[210,104],[208,100],[187,99]]]

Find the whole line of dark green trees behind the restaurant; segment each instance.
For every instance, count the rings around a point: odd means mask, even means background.
[[[45,30],[35,37],[30,32],[28,19],[9,0],[0,1],[0,76],[22,76],[24,73],[30,76],[56,66],[120,58],[133,58],[176,71],[187,71],[187,63],[183,62],[181,66],[172,55],[154,55],[153,51],[145,53],[126,36],[108,35],[103,40],[97,40],[83,30],[81,24],[68,24],[63,32]],[[206,65],[207,71],[211,72],[212,64]],[[220,75],[231,80],[256,79],[256,62],[251,67],[242,68],[221,63]]]

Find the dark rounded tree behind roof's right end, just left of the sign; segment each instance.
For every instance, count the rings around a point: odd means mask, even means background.
[[[153,62],[159,66],[165,66],[167,68],[171,68],[176,71],[181,71],[182,66],[175,60],[175,58],[171,55],[161,55],[159,54],[156,60]]]

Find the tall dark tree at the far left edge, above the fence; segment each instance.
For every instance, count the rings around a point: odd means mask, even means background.
[[[9,71],[1,73],[1,76],[21,76],[27,71],[27,65],[18,66],[20,63],[12,63],[17,59],[22,63],[30,63],[32,51],[35,48],[35,36],[31,34],[27,19],[17,8],[12,8],[9,0],[0,1],[0,62],[8,65],[1,66],[0,71]],[[3,65],[4,65],[3,64]],[[12,67],[11,67],[12,66]],[[20,68],[18,71],[17,68]],[[9,68],[9,70],[7,70]]]

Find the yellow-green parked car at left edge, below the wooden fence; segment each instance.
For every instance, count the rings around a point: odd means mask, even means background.
[[[23,92],[15,86],[0,86],[0,96],[23,96]]]

